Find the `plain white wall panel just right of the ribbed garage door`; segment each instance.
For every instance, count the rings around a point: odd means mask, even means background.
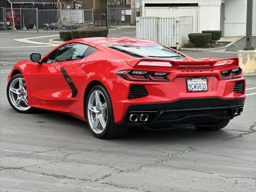
[[[220,30],[220,6],[198,6],[198,32]]]

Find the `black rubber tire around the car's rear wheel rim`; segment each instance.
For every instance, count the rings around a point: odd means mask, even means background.
[[[86,100],[86,119],[88,120],[88,113],[87,113],[87,107],[88,107],[88,101],[90,98],[90,95],[92,94],[92,92],[94,92],[95,90],[99,90],[102,92],[102,94],[104,95],[105,99],[106,99],[106,103],[107,103],[107,107],[108,107],[108,118],[107,118],[107,122],[106,122],[106,128],[104,129],[104,131],[100,134],[95,133],[89,122],[88,122],[88,127],[90,128],[90,131],[92,132],[92,134],[96,137],[96,138],[100,138],[100,139],[107,139],[107,138],[120,138],[123,137],[126,133],[127,133],[127,127],[124,126],[118,126],[117,124],[115,124],[114,122],[114,114],[113,114],[113,107],[112,107],[112,102],[110,99],[110,95],[107,91],[107,89],[99,84],[94,86],[87,97]]]

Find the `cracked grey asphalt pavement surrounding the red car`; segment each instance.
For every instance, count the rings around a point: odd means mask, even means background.
[[[113,36],[126,36],[113,30]],[[6,34],[8,33],[8,34]],[[254,191],[256,78],[246,78],[242,115],[218,131],[194,127],[131,129],[120,139],[94,138],[86,122],[48,111],[20,114],[6,98],[7,75],[30,52],[55,45],[20,42],[56,34],[0,32],[0,191]],[[52,37],[48,37],[49,39]],[[40,42],[40,38],[30,39]],[[47,37],[42,38],[42,43]],[[44,42],[43,42],[44,41]],[[230,58],[234,52],[185,52]]]

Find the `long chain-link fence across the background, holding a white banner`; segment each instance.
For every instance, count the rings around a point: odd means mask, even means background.
[[[75,30],[84,26],[110,27],[136,25],[140,9],[108,8],[84,10],[38,10],[0,8],[0,29]]]

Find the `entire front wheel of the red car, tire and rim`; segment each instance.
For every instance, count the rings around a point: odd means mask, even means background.
[[[7,84],[7,98],[12,108],[20,113],[30,113],[34,110],[28,106],[26,82],[22,74],[14,75]]]

